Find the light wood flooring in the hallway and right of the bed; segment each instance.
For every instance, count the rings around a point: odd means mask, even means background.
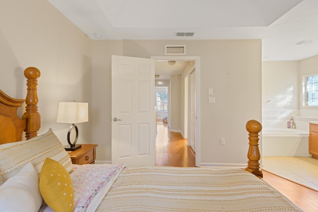
[[[158,121],[156,166],[195,167],[195,156],[180,133],[170,132],[167,124]],[[263,179],[305,212],[318,212],[318,192],[269,172]]]

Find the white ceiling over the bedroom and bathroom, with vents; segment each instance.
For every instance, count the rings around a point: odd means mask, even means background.
[[[318,55],[318,0],[48,1],[91,39],[262,39],[263,61]]]

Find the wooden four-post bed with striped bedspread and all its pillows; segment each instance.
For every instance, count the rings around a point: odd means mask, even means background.
[[[75,165],[52,129],[37,135],[40,71],[29,67],[24,75],[25,100],[0,91],[1,212],[302,211],[262,180],[258,121],[246,123],[246,169]],[[24,101],[25,113],[18,118]]]

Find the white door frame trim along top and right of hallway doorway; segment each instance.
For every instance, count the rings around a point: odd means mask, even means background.
[[[151,56],[155,61],[195,61],[195,109],[196,109],[196,128],[195,128],[195,165],[200,167],[200,57],[199,56]],[[156,71],[156,70],[155,70]],[[189,74],[189,73],[188,73]]]

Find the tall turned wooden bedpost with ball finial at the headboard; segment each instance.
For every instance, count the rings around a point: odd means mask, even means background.
[[[41,127],[41,116],[38,113],[38,95],[37,95],[37,82],[40,77],[40,71],[35,67],[28,67],[24,70],[24,76],[27,78],[26,85],[28,86],[25,103],[26,110],[22,118],[27,119],[27,126],[25,129],[25,138],[31,139],[37,136],[37,132]]]

